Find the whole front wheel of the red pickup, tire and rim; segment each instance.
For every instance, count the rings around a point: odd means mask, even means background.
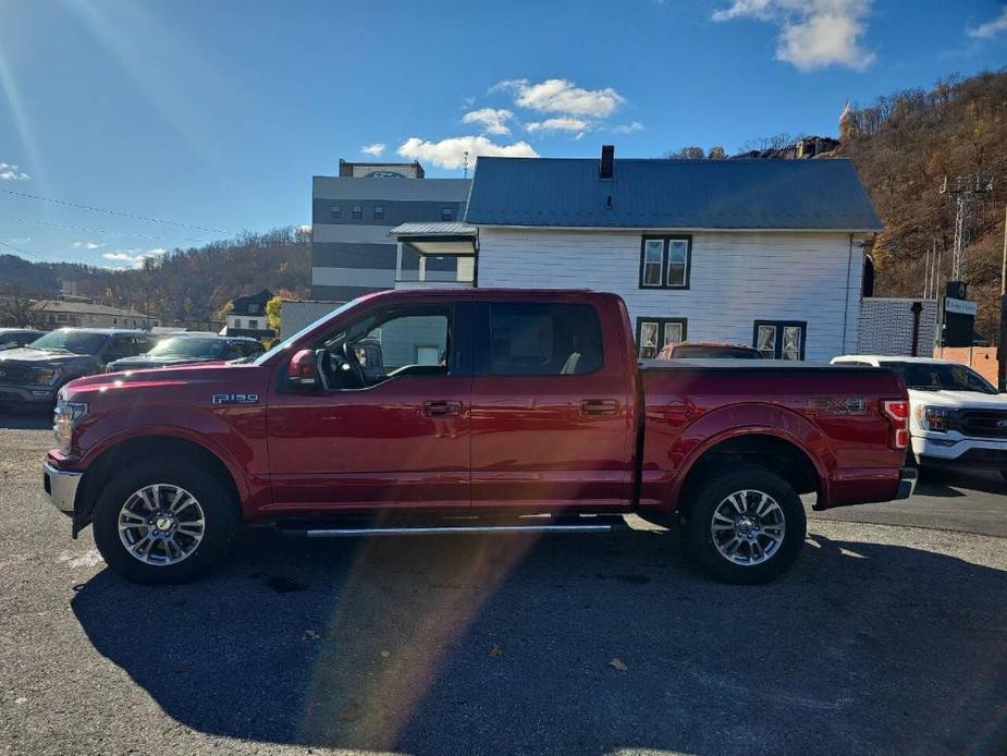
[[[134,583],[184,583],[228,550],[237,507],[224,481],[184,458],[152,459],[112,477],[95,507],[95,544]]]

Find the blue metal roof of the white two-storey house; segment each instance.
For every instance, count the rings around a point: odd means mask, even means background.
[[[617,159],[480,157],[466,222],[633,229],[881,231],[847,159]],[[609,197],[611,196],[611,207]]]

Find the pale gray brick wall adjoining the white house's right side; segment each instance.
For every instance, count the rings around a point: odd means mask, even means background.
[[[869,296],[860,302],[859,354],[886,354],[907,357],[912,354],[912,305],[923,305],[920,313],[918,357],[930,357],[937,329],[937,301],[887,296]]]

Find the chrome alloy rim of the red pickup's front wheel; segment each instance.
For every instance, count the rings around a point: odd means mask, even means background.
[[[168,483],[144,486],[119,511],[119,538],[144,564],[177,564],[193,554],[205,531],[196,497]]]

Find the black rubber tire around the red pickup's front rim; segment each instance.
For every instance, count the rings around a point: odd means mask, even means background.
[[[202,510],[201,539],[188,556],[171,564],[142,561],[130,552],[119,534],[120,514],[125,504],[135,492],[155,484],[184,489]],[[162,495],[165,505],[167,499],[168,495]],[[185,516],[196,516],[192,514],[193,510],[187,511],[189,514]],[[224,557],[238,522],[238,503],[231,487],[219,474],[185,456],[153,458],[130,464],[106,484],[95,505],[95,544],[106,563],[133,583],[184,583],[202,574]],[[191,544],[188,539],[181,538],[180,542]],[[155,556],[157,553],[156,547]]]

